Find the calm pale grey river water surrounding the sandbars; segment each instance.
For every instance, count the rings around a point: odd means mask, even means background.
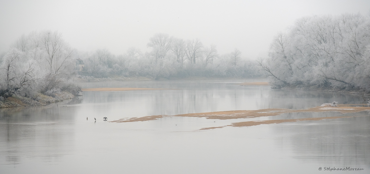
[[[370,173],[369,112],[346,114],[366,115],[353,118],[211,130],[199,129],[240,121],[343,114],[290,113],[230,120],[166,117],[126,123],[102,120],[104,116],[113,121],[363,102],[361,95],[238,85],[252,81],[261,79],[81,83],[82,88],[163,89],[83,92],[58,106],[0,109],[0,173],[326,173],[324,167],[364,168],[331,173]]]

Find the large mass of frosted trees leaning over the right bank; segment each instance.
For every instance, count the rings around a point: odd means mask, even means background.
[[[278,33],[259,65],[276,88],[370,92],[370,17],[310,16]]]

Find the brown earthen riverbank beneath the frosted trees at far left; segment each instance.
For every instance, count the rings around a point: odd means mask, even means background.
[[[54,93],[54,97],[38,93],[35,99],[13,95],[0,101],[0,108],[21,107],[21,106],[45,106],[51,103],[74,98],[70,92]]]

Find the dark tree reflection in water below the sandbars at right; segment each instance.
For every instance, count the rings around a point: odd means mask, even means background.
[[[294,158],[332,167],[363,167],[370,166],[369,122],[370,116],[360,116],[279,125],[273,131],[285,137],[277,145],[293,151]]]

